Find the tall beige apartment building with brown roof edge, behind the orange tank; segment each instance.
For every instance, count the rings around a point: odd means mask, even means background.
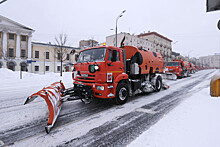
[[[172,40],[162,36],[157,32],[148,32],[138,35],[139,38],[147,39],[153,43],[153,50],[161,53],[165,61],[171,61]]]

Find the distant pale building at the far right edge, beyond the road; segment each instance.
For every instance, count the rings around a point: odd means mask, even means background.
[[[199,57],[199,63],[203,66],[220,68],[220,53]]]

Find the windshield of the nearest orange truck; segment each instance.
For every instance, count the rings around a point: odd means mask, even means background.
[[[78,63],[79,62],[98,62],[104,61],[106,55],[106,48],[94,48],[82,51],[79,54]]]

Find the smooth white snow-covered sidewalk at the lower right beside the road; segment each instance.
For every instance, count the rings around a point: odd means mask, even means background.
[[[209,81],[198,86],[194,88],[197,90],[193,95],[189,95],[129,147],[219,147],[220,97],[210,96]]]

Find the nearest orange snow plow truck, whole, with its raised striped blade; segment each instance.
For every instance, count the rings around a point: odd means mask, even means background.
[[[49,109],[45,127],[49,133],[59,115],[60,102],[81,99],[90,103],[94,98],[113,99],[124,104],[129,96],[169,88],[162,82],[164,60],[161,54],[133,46],[101,46],[82,50],[73,69],[73,87],[65,89],[62,82],[29,96],[43,97]],[[50,119],[51,118],[51,119]]]

